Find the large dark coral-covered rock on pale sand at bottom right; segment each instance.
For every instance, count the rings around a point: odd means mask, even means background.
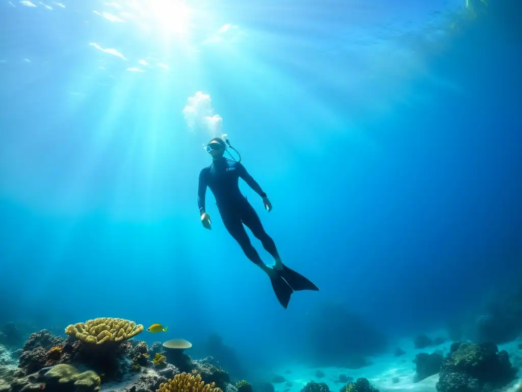
[[[501,388],[511,382],[517,370],[506,351],[492,343],[453,343],[446,355],[438,392],[481,392]]]

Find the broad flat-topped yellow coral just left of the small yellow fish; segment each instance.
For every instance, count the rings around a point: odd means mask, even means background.
[[[123,318],[99,317],[65,328],[65,333],[86,343],[102,344],[123,341],[143,332],[143,325]]]

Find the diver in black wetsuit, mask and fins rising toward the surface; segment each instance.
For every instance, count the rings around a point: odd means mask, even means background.
[[[294,291],[318,291],[319,288],[303,275],[282,263],[274,240],[265,232],[259,216],[239,190],[239,178],[242,178],[262,198],[268,212],[272,210],[272,204],[256,180],[248,174],[241,164],[241,156],[239,156],[239,160],[223,156],[225,152],[230,155],[227,147],[232,148],[237,153],[228,139],[225,142],[220,137],[212,139],[206,147],[207,153],[212,157],[212,164],[199,173],[198,206],[201,223],[203,227],[211,229],[210,215],[205,212],[205,195],[207,187],[209,187],[216,199],[225,228],[238,241],[246,257],[266,272],[277,299],[286,309],[290,295]],[[232,157],[232,155],[230,156]],[[250,228],[252,234],[261,241],[263,247],[274,257],[275,265],[273,267],[268,267],[261,260],[243,225]]]

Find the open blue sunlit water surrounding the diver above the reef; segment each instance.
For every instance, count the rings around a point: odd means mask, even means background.
[[[306,361],[331,304],[414,336],[520,281],[522,34],[499,4],[173,4],[0,4],[0,322],[159,322],[270,367]],[[321,289],[288,309],[210,191],[201,227],[198,91]]]

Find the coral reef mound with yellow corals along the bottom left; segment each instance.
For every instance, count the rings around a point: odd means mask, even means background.
[[[248,383],[239,384],[241,391],[229,384],[228,373],[213,363],[212,357],[192,360],[183,354],[191,345],[186,341],[177,350],[158,343],[149,348],[147,343],[131,339],[141,329],[133,327],[136,325],[132,321],[90,321],[69,325],[65,340],[49,330],[32,333],[23,348],[14,352],[19,354],[18,361],[0,346],[0,392],[37,392],[43,388],[51,392],[96,392],[100,388],[111,392],[151,392],[161,388],[178,392],[252,392]],[[175,352],[174,357],[181,358],[189,372],[180,373],[161,349],[165,354]]]

